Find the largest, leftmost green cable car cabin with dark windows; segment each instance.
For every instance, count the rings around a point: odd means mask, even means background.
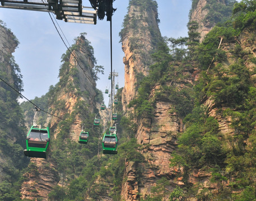
[[[25,156],[47,158],[50,149],[50,132],[49,128],[39,128],[31,126],[26,137]]]

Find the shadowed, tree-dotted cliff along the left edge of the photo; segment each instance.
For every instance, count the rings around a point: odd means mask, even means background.
[[[20,69],[12,56],[17,45],[18,41],[13,33],[1,24],[0,77],[20,92],[22,90]],[[4,82],[0,81],[0,183],[3,181],[5,183],[13,182],[18,174],[18,169],[21,167],[20,165],[22,163],[27,164],[27,160],[24,160],[21,150],[19,150],[22,149],[20,145],[22,145],[25,132],[24,119],[17,103],[18,94]],[[15,151],[13,151],[14,146],[17,149]],[[13,153],[13,155],[10,153]],[[4,191],[1,194],[4,194]]]

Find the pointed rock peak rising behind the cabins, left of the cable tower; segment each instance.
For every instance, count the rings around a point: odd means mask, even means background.
[[[75,111],[78,102],[85,102],[90,105],[88,107],[89,112],[94,112],[96,108],[95,103],[95,80],[92,78],[92,68],[94,68],[94,61],[92,61],[92,56],[90,55],[90,50],[87,49],[86,39],[81,36],[76,41],[76,46],[79,48],[73,50],[72,54],[68,59],[68,68],[66,71],[60,75],[60,82],[62,79],[67,79],[66,83],[62,85],[60,90],[55,94],[55,102],[53,103],[52,111],[54,111],[55,116],[64,117],[66,113],[71,114]],[[72,73],[75,71],[76,73]],[[68,78],[64,78],[67,74],[70,74]],[[77,95],[78,93],[86,93],[87,95]],[[55,103],[62,103],[62,109],[56,111]],[[55,127],[59,118],[53,117],[50,121],[51,127]],[[80,114],[75,117],[75,122],[71,126],[71,139],[78,141],[81,132],[82,119]],[[54,133],[58,133],[56,130]],[[55,135],[56,137],[57,135]]]

